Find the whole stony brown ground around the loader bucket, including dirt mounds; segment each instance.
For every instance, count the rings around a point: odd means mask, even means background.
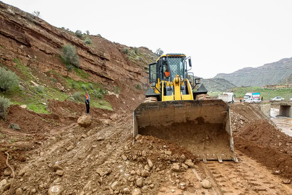
[[[132,145],[136,104],[138,100],[128,100],[128,106],[121,103],[124,109],[114,111],[93,108],[88,128],[77,124],[83,104],[50,101],[50,115],[10,107],[7,122],[18,123],[21,129],[7,128],[8,123],[1,122],[1,193],[292,193],[291,184],[283,183],[292,178],[291,137],[252,105],[231,105],[239,162],[203,163],[183,146],[152,136],[139,136]],[[6,151],[14,181],[5,162]],[[210,188],[202,187],[204,179],[211,182]]]

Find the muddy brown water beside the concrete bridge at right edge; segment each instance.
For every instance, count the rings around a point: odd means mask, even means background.
[[[292,118],[287,117],[277,117],[279,114],[278,108],[271,108],[271,121],[273,121],[278,128],[282,129],[282,132],[286,133],[290,137],[292,137]]]

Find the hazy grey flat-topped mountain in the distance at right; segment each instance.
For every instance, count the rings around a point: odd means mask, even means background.
[[[214,78],[224,78],[236,86],[264,86],[280,84],[292,74],[292,58],[284,58],[256,68],[247,67],[230,74],[219,73]],[[286,81],[285,81],[286,83]]]

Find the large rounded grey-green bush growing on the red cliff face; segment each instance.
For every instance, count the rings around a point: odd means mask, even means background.
[[[66,64],[68,70],[72,70],[73,66],[80,67],[79,56],[76,52],[75,46],[70,44],[63,46],[61,60]]]

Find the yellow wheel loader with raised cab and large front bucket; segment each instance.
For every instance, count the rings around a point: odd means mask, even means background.
[[[146,98],[133,113],[133,144],[136,135],[148,135],[183,145],[204,162],[238,161],[229,105],[218,99],[196,100],[207,90],[188,72],[187,61],[191,67],[190,57],[166,54],[149,65]]]

